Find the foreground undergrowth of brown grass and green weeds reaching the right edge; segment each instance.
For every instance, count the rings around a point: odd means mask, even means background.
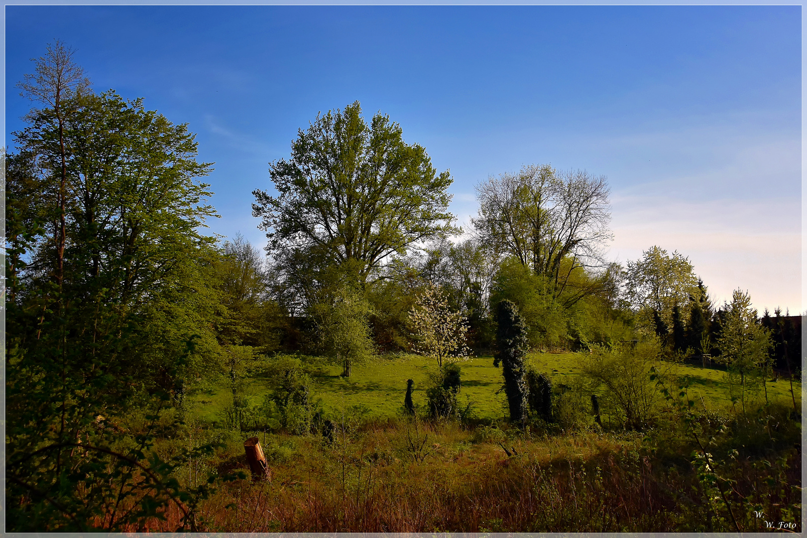
[[[696,419],[697,439],[674,406],[642,432],[407,418],[337,425],[332,441],[208,431],[224,448],[207,468],[246,471],[242,442],[257,435],[273,479],[220,485],[199,520],[227,532],[800,532],[800,418],[769,406]]]

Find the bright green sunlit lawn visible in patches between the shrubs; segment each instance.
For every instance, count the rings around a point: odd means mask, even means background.
[[[530,362],[540,371],[550,375],[553,385],[568,385],[573,376],[579,375],[576,353],[535,353]],[[462,367],[461,405],[470,401],[475,418],[505,418],[506,403],[504,392],[496,394],[502,386],[501,368],[494,368],[491,357],[468,359],[460,363]],[[321,399],[326,413],[338,416],[351,406],[366,406],[370,417],[386,418],[395,416],[406,393],[407,380],[415,381],[412,400],[416,406],[425,406],[425,389],[429,386],[429,371],[437,370],[437,362],[418,355],[379,357],[369,364],[353,367],[350,377],[340,376],[339,366],[320,366],[312,372],[315,399]],[[689,378],[690,397],[703,400],[708,406],[725,407],[730,405],[729,385],[725,371],[715,368],[700,368],[688,364],[676,367],[678,376]],[[767,384],[771,401],[791,400],[790,385],[780,379]],[[801,406],[801,383],[793,383],[797,406]],[[240,389],[250,405],[258,405],[269,391],[267,380],[255,376],[245,380]],[[203,422],[220,422],[225,406],[232,403],[227,386],[209,386],[191,394],[192,413]]]

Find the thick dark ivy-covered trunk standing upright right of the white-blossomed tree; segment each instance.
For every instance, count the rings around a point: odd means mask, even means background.
[[[502,364],[504,393],[507,395],[510,420],[526,418],[527,380],[525,359],[529,351],[527,327],[512,301],[501,301],[496,310],[496,361]]]

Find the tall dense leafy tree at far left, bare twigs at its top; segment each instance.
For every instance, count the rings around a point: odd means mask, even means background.
[[[80,77],[54,90],[60,73],[81,73],[65,61],[54,46],[21,85],[43,106],[15,133],[6,168],[6,525],[109,531],[170,502],[193,527],[195,501],[169,479],[178,462],[147,455],[180,381],[218,358],[217,253],[199,233],[213,215],[199,182],[210,166],[186,125],[139,100],[79,91]],[[151,425],[117,427],[135,405]]]

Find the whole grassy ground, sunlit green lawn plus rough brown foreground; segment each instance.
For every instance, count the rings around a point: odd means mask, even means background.
[[[581,356],[535,353],[529,361],[562,393],[583,378]],[[539,420],[522,429],[507,420],[504,390],[497,393],[502,371],[492,358],[461,364],[458,401],[470,401],[472,409],[466,420],[425,416],[429,372],[437,370],[433,359],[379,357],[354,366],[349,378],[339,375],[341,367],[310,359],[305,368],[312,395],[337,423],[332,439],[313,430],[294,435],[224,427],[232,393],[223,384],[190,395],[186,429],[159,450],[168,457],[188,443],[220,443],[211,457],[182,468],[178,479],[191,487],[207,473],[241,473],[200,504],[199,526],[211,530],[801,530],[801,419],[792,414],[787,380],[767,384],[769,405],[757,397],[742,412],[731,403],[725,371],[676,364],[675,379],[688,382],[697,411],[694,426],[661,399],[655,425],[644,431],[625,429],[605,414],[600,427],[586,406],[582,427],[558,430]],[[249,406],[258,406],[270,390],[266,375],[256,372],[239,389]],[[415,382],[416,418],[401,413],[408,379]],[[793,389],[799,397],[801,385]],[[270,481],[249,478],[243,442],[256,435]],[[699,443],[708,444],[708,466],[699,459]],[[148,530],[169,530],[179,516],[169,511]]]

